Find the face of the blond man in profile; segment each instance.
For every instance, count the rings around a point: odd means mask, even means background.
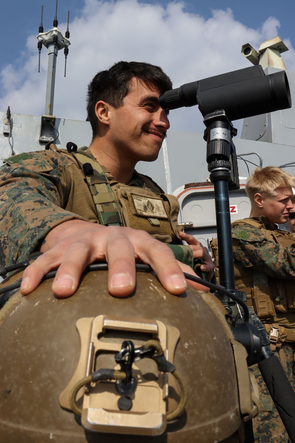
[[[292,196],[293,192],[289,187],[277,188],[274,197],[265,198],[261,194],[255,194],[254,200],[259,211],[257,215],[265,215],[271,226],[274,223],[279,225],[286,223],[289,212],[293,208]]]

